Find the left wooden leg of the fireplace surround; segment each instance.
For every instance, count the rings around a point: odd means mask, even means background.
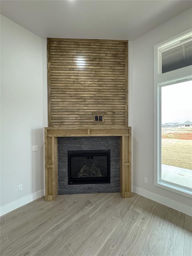
[[[45,128],[45,200],[54,201],[57,191],[57,137],[48,137]]]

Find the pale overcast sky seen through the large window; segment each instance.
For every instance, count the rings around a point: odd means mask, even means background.
[[[161,111],[162,124],[192,122],[192,81],[163,86]]]

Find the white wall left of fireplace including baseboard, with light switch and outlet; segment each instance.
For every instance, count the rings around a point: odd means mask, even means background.
[[[42,54],[42,38],[1,15],[1,214],[44,193]]]

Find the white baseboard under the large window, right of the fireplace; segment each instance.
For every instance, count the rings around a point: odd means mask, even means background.
[[[173,208],[177,211],[180,211],[180,212],[183,212],[187,215],[192,216],[192,208],[190,206],[187,206],[187,205],[183,204],[183,203],[179,203],[177,201],[171,200],[169,198],[160,196],[158,194],[155,194],[153,192],[150,192],[150,191],[147,191],[145,189],[138,188],[138,187],[135,187],[135,186],[133,186],[133,192],[136,193],[136,194],[139,194],[141,196],[147,197],[147,198],[149,198],[153,201],[156,201],[160,204],[164,204],[164,205],[166,205],[170,208]]]

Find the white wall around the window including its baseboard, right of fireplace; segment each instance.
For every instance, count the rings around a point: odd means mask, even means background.
[[[154,186],[154,45],[192,25],[192,9],[129,42],[129,125],[133,133],[133,190],[192,214],[189,197]],[[148,178],[148,184],[144,183]]]

